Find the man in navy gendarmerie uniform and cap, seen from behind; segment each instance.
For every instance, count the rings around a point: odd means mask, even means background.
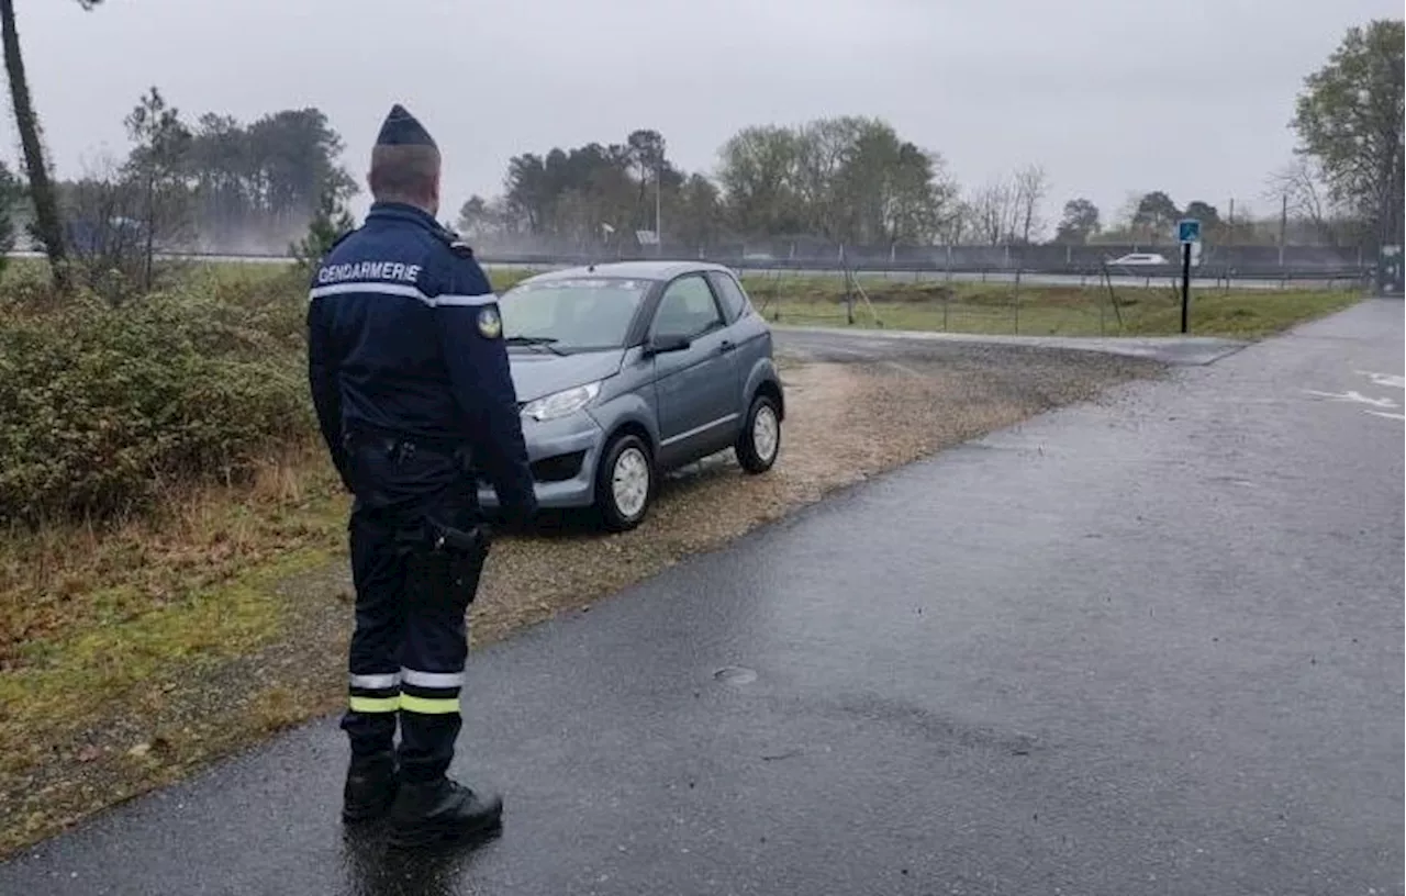
[[[364,225],[312,277],[308,372],[322,435],[356,496],[343,816],[389,809],[392,843],[418,844],[498,826],[496,795],[446,777],[465,614],[488,555],[474,469],[517,521],[536,500],[496,296],[472,251],[436,222],[439,150],[399,105],[370,183]]]

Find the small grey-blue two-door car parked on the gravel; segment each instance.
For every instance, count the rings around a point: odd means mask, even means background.
[[[737,277],[695,261],[553,271],[501,301],[537,500],[644,521],[664,472],[727,449],[776,462],[786,399],[772,333]],[[485,508],[496,494],[479,483]]]

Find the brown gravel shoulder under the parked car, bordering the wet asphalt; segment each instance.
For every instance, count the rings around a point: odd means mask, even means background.
[[[783,358],[789,416],[776,468],[744,476],[731,454],[672,476],[648,522],[581,527],[495,545],[471,611],[475,645],[591,604],[827,493],[1033,414],[1159,376],[1137,358],[1004,345],[912,347],[876,362]],[[142,683],[83,730],[0,764],[0,857],[180,779],[344,701],[350,576],[344,553],[269,583],[276,636],[240,656],[194,656]]]

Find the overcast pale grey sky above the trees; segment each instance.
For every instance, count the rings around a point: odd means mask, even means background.
[[[156,84],[194,118],[316,105],[361,177],[405,103],[446,153],[444,204],[501,190],[508,159],[655,128],[711,170],[751,124],[879,115],[966,185],[1026,162],[1047,216],[1167,190],[1270,204],[1305,74],[1402,0],[17,0],[60,174],[125,150]],[[13,136],[7,157],[18,154]],[[363,192],[364,202],[364,192]],[[357,211],[363,208],[357,204]],[[443,215],[451,218],[451,213]]]

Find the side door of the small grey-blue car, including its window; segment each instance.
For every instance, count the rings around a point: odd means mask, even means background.
[[[688,463],[737,440],[737,353],[723,309],[703,274],[685,274],[664,289],[651,338],[685,337],[689,347],[654,357],[659,461]]]

